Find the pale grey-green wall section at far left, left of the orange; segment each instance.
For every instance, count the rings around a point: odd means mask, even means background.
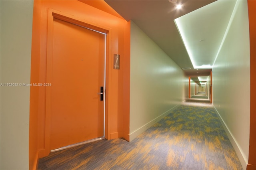
[[[1,83],[30,83],[33,1],[1,0]],[[29,87],[1,86],[1,168],[28,169]]]

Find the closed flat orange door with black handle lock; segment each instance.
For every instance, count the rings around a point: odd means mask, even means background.
[[[54,18],[51,150],[104,136],[105,39]]]

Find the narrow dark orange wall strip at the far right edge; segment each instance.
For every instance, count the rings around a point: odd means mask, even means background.
[[[250,141],[247,170],[256,169],[256,1],[248,0],[250,32]]]

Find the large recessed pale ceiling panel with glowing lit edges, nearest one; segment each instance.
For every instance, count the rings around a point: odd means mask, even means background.
[[[174,20],[194,68],[212,68],[236,0],[218,0]]]

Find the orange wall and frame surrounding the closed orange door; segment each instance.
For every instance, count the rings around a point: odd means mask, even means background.
[[[112,14],[99,10],[104,8]],[[107,9],[109,8],[109,9]],[[111,32],[106,49],[106,138],[124,137],[129,140],[129,101],[130,101],[130,22],[113,15],[106,3],[90,1],[34,1],[31,83],[46,82],[46,57],[49,10],[56,10],[85,23],[102,27]],[[68,34],[68,33],[67,33]],[[120,54],[120,69],[113,69],[113,55]],[[61,61],[60,61],[61,62]],[[29,166],[36,169],[38,158],[47,156],[50,151],[50,117],[46,115],[46,88],[30,88],[30,136]]]

